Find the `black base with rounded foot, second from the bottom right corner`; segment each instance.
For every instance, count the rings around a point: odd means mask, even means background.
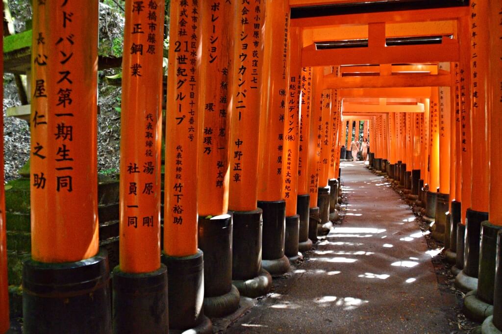
[[[493,314],[495,255],[499,231],[502,231],[502,226],[492,225],[489,221],[481,223],[477,290],[465,295],[463,308],[467,317],[478,322],[483,322]]]

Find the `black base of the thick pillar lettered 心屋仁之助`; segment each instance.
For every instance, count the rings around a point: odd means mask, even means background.
[[[23,264],[26,334],[110,334],[111,298],[106,251],[87,260]]]

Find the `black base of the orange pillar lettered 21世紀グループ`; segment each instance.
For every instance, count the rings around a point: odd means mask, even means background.
[[[169,332],[190,329],[212,333],[212,323],[204,315],[204,257],[201,250],[185,257],[162,254],[167,266],[169,295]]]

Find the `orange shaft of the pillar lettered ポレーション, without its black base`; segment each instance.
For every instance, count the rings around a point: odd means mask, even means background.
[[[198,210],[200,215],[219,215],[228,210],[229,130],[231,110],[230,76],[233,71],[233,26],[235,7],[230,2],[201,3],[203,29],[201,67],[202,134],[199,138]],[[242,12],[241,12],[242,13]],[[245,13],[245,12],[244,12]],[[241,42],[242,43],[242,42]],[[240,47],[239,58],[249,58],[250,45]],[[240,64],[238,73],[251,71]],[[245,93],[244,93],[245,94]],[[241,146],[239,139],[235,145]],[[234,151],[235,152],[235,151]],[[235,158],[238,159],[238,156]],[[234,175],[239,173],[239,162]]]

